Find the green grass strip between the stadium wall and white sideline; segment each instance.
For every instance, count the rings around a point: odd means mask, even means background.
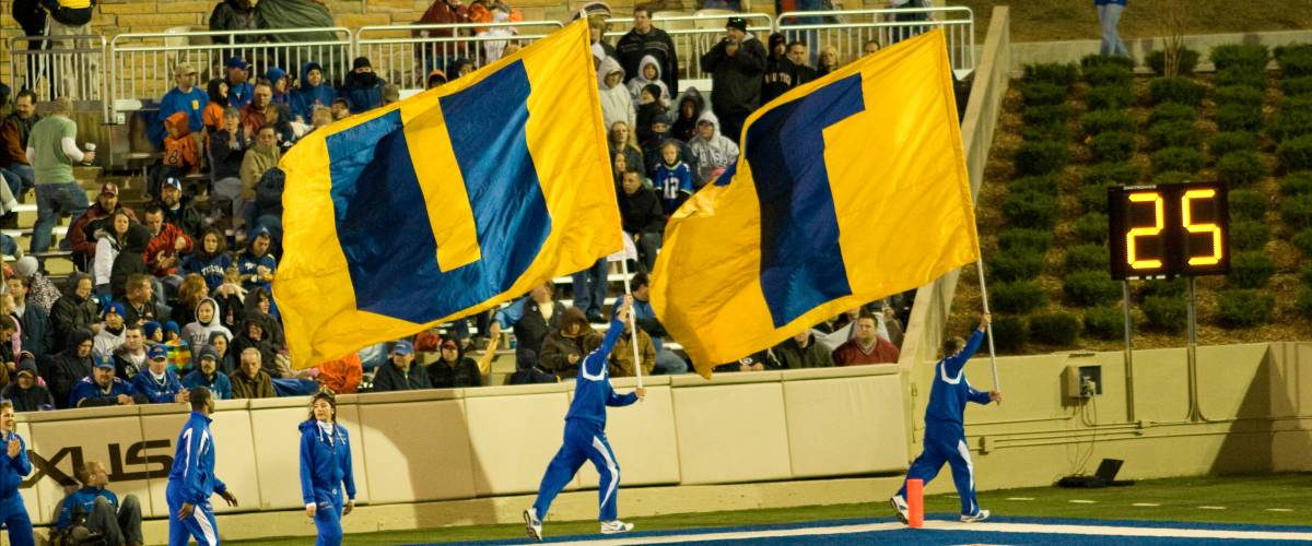
[[[941,475],[941,479],[947,479],[947,475]],[[1307,525],[1312,521],[1312,495],[1308,495],[1309,490],[1312,490],[1312,473],[1155,479],[1143,481],[1130,487],[1109,487],[1102,490],[1064,490],[1056,487],[1000,490],[980,492],[979,499],[980,505],[993,511],[996,516]],[[1081,500],[1084,503],[1072,503],[1072,500]],[[959,509],[955,495],[928,496],[925,505],[926,512],[932,515],[953,515]],[[1219,509],[1216,507],[1223,508]],[[621,517],[623,517],[623,505],[621,505]],[[628,521],[635,522],[639,530],[663,530],[858,517],[893,520],[887,503],[879,501],[874,504],[682,513],[634,517]],[[597,522],[548,521],[544,530],[548,537],[592,534],[597,533]],[[522,537],[523,525],[510,524],[348,534],[346,543],[396,545]],[[234,541],[228,543],[281,546],[300,545],[304,542],[304,537],[289,537]]]

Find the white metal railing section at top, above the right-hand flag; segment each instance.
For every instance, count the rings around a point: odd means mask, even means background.
[[[967,7],[786,12],[778,17],[778,30],[789,42],[807,42],[812,58],[832,46],[840,65],[862,56],[866,42],[887,47],[932,29],[943,30],[954,71],[975,69],[975,12]]]

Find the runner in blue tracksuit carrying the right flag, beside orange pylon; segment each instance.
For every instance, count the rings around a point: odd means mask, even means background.
[[[1002,394],[980,391],[971,388],[962,368],[979,350],[988,329],[989,316],[980,318],[980,326],[971,334],[968,342],[953,338],[943,343],[943,360],[934,367],[934,386],[929,391],[929,406],[925,407],[925,452],[916,457],[907,471],[907,479],[922,479],[929,484],[938,470],[947,462],[953,467],[953,482],[962,499],[962,521],[984,521],[989,513],[980,509],[975,500],[975,467],[971,465],[971,449],[966,445],[966,429],[962,414],[966,402],[989,403],[1002,399]],[[964,344],[964,347],[962,347]],[[891,499],[893,511],[901,522],[907,522],[907,482]]]

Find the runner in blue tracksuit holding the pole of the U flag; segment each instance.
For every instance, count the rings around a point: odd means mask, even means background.
[[[625,333],[625,321],[628,319],[632,304],[632,297],[625,296],[625,302],[619,306],[615,319],[610,322],[610,330],[606,331],[601,347],[584,356],[579,367],[573,402],[569,403],[569,412],[565,414],[564,445],[556,452],[551,465],[547,466],[546,475],[542,477],[538,500],[533,503],[531,508],[523,511],[523,524],[529,537],[535,541],[542,541],[542,517],[547,515],[551,501],[588,460],[597,467],[597,474],[601,474],[601,483],[597,488],[601,504],[601,533],[614,534],[634,529],[634,524],[619,521],[615,516],[619,464],[615,462],[615,452],[610,449],[610,443],[606,440],[606,406],[628,406],[647,395],[643,388],[623,395],[615,394],[615,389],[610,386],[610,373],[607,373],[610,350],[615,347],[615,342]]]

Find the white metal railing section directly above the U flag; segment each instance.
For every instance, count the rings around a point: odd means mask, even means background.
[[[434,68],[449,72],[461,59],[483,67],[562,27],[559,21],[363,26],[353,42],[356,55],[367,56],[380,77],[401,89],[424,89]]]

